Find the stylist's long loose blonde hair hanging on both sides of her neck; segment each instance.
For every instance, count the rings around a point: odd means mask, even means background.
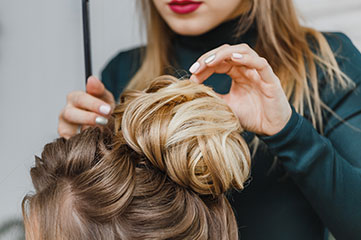
[[[148,45],[143,64],[128,89],[144,89],[152,78],[164,74],[171,65],[171,30],[153,1],[140,0],[140,5],[147,23]],[[308,109],[313,125],[322,132],[322,108],[331,110],[321,101],[316,66],[326,73],[332,89],[351,84],[340,71],[325,37],[300,25],[292,0],[242,0],[240,8],[244,14],[238,34],[257,23],[259,37],[255,50],[269,61],[296,111],[304,115]]]

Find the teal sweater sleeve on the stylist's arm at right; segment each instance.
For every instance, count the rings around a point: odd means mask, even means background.
[[[361,54],[353,47],[348,56],[341,68],[355,86],[326,102],[342,121],[331,115],[322,136],[293,109],[281,132],[260,138],[336,239],[361,239]]]

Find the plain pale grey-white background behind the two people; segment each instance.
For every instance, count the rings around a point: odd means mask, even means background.
[[[91,2],[93,70],[144,42],[134,0]],[[361,49],[360,0],[297,0],[306,24]],[[360,63],[361,64],[361,63]],[[84,88],[81,0],[0,0],[0,226],[20,217],[34,154],[57,137],[66,94]]]

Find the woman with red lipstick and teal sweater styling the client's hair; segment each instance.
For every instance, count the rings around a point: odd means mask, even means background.
[[[141,4],[148,45],[115,56],[105,87],[91,77],[88,93],[70,93],[59,134],[104,124],[125,88],[189,69],[257,143],[249,186],[229,197],[242,239],[361,239],[361,54],[351,41],[301,26],[291,0]]]

